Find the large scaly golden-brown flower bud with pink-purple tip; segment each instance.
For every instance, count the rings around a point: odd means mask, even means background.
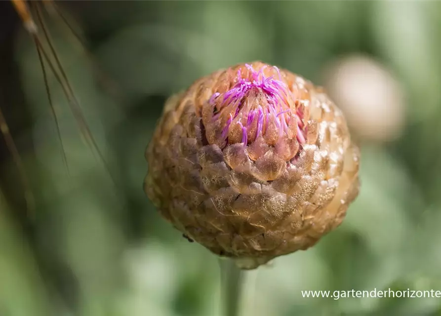
[[[254,62],[167,101],[144,187],[184,236],[254,269],[342,222],[359,191],[359,157],[320,88]]]

